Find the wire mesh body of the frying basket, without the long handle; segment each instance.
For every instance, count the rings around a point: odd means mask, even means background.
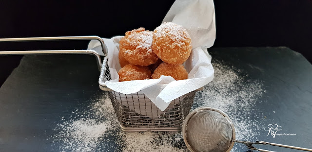
[[[123,94],[105,86],[111,80],[108,58],[105,57],[99,85],[102,90],[108,91],[117,119],[123,131],[181,131],[184,118],[188,115],[196,90],[173,100],[167,109],[161,111],[156,105],[138,91],[132,94]]]

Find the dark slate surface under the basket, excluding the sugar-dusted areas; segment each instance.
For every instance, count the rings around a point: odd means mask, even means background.
[[[259,115],[266,116],[261,124],[275,122],[285,126],[284,132],[297,134],[273,139],[259,129],[261,135],[254,140],[312,148],[312,65],[301,54],[286,47],[215,48],[209,52],[213,64],[222,60],[264,83],[266,93],[259,100],[266,102],[255,106],[256,112],[262,112]],[[0,152],[56,151],[58,145],[49,139],[53,129],[62,116],[86,108],[90,98],[102,94],[98,76],[93,56],[25,56],[0,88]]]

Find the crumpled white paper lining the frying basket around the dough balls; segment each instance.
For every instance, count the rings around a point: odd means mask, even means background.
[[[203,87],[214,77],[211,56],[207,52],[207,48],[215,42],[214,2],[213,0],[176,0],[163,22],[182,25],[191,36],[193,49],[190,58],[184,63],[189,73],[187,80],[176,81],[171,76],[161,76],[159,79],[118,82],[117,71],[121,68],[118,60],[121,37],[103,39],[108,48],[108,65],[112,77],[112,80],[105,82],[105,85],[124,94],[141,90],[162,111],[172,100]],[[99,46],[98,41],[91,41],[88,49],[98,50]]]

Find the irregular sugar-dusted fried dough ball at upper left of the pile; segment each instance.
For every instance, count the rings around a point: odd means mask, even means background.
[[[153,32],[144,28],[126,32],[120,39],[119,48],[125,59],[132,65],[147,66],[155,64],[157,55],[152,51]]]

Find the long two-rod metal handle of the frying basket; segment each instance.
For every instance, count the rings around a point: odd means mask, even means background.
[[[64,41],[64,40],[98,40],[102,52],[95,50],[35,50],[35,51],[0,51],[0,55],[26,55],[26,54],[92,54],[97,59],[98,70],[102,68],[101,55],[107,55],[107,47],[102,38],[98,36],[73,36],[73,37],[33,37],[33,38],[5,38],[0,42],[29,42],[29,41]]]

